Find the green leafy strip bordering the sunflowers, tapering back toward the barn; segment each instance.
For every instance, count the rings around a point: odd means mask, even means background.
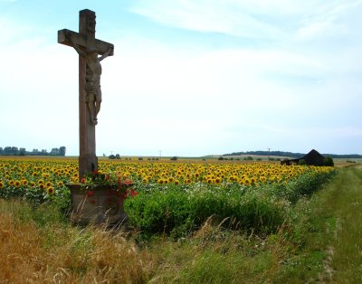
[[[129,221],[148,235],[167,232],[186,236],[210,216],[233,229],[276,232],[289,218],[291,204],[310,195],[334,172],[300,175],[287,184],[230,187],[189,186],[140,191],[125,202]]]

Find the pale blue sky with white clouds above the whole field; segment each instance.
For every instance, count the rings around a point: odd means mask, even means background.
[[[362,154],[362,1],[0,0],[0,147],[78,155],[78,60],[97,14],[97,154]]]

